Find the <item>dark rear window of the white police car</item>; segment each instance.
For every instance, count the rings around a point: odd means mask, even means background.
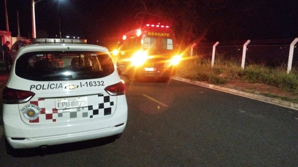
[[[113,72],[112,59],[100,52],[32,52],[15,64],[17,76],[34,81],[95,79]]]

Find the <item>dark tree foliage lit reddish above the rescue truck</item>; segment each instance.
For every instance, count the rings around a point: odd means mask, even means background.
[[[224,0],[137,0],[141,7],[136,8],[138,23],[144,20],[157,20],[169,24],[181,44],[187,46],[206,40],[214,18],[204,16],[218,10],[216,4]],[[221,6],[221,5],[219,5]],[[207,14],[208,15],[208,14]]]

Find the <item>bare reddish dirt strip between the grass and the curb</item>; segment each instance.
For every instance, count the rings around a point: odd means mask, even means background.
[[[269,86],[266,84],[247,83],[242,80],[232,80],[227,84],[219,86],[247,93],[276,98],[288,102],[298,103],[298,94],[292,94],[275,86]]]

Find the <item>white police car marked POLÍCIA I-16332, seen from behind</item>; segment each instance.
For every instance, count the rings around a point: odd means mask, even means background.
[[[35,39],[18,51],[2,93],[8,147],[120,137],[128,114],[125,83],[108,50],[85,42]]]

